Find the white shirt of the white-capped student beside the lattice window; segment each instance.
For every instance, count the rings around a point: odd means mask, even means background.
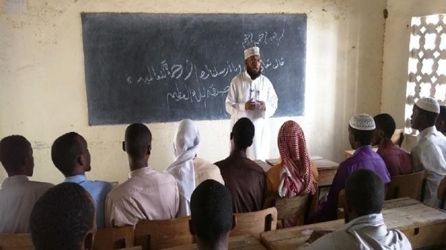
[[[414,171],[427,171],[427,188],[424,202],[437,207],[440,200],[437,189],[446,175],[446,137],[436,130],[436,127],[427,127],[416,136],[418,144],[412,149],[412,166]]]

